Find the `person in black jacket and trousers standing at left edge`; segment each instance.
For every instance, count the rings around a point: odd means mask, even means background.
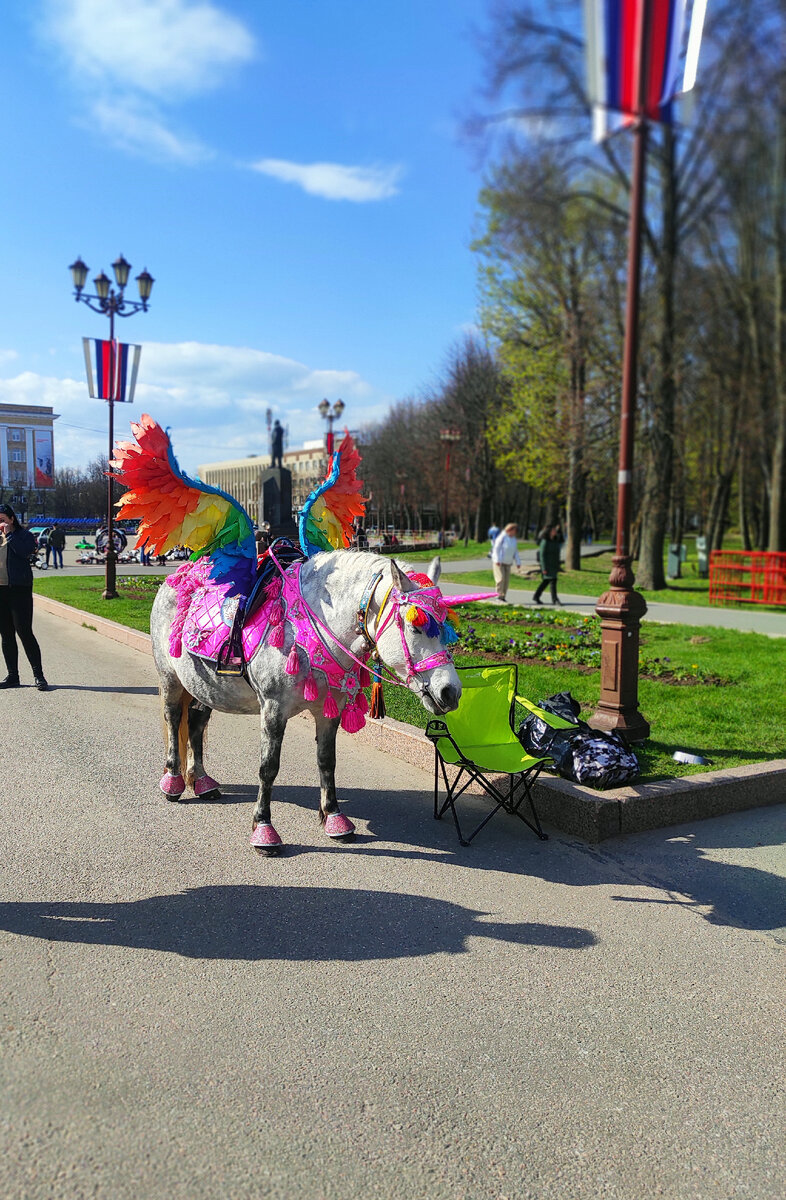
[[[10,504],[0,504],[0,640],[8,674],[0,688],[19,686],[19,648],[24,647],[38,691],[49,684],[43,677],[41,648],[32,632],[32,568],[36,539],[23,529]]]

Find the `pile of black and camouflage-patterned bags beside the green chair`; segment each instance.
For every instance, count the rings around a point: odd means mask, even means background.
[[[563,779],[586,787],[620,787],[638,775],[638,760],[619,733],[592,730],[578,720],[580,704],[569,691],[539,700],[538,707],[575,727],[554,730],[530,713],[518,727],[518,740],[528,754],[548,757]]]

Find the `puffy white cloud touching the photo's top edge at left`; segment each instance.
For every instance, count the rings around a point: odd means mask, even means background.
[[[250,61],[254,40],[206,0],[46,0],[44,35],[88,85],[194,96]]]

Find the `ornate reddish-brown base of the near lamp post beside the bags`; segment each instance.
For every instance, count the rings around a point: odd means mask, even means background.
[[[613,559],[614,570],[629,576],[630,559]],[[612,581],[614,576],[612,570]],[[616,730],[630,742],[649,737],[649,722],[638,712],[638,626],[647,612],[641,592],[611,583],[598,601],[600,617],[600,700],[589,718],[595,730]]]

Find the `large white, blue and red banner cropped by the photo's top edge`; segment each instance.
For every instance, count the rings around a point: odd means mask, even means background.
[[[642,67],[646,71],[643,115],[652,121],[672,120],[672,101],[690,91],[696,82],[706,10],[707,0],[692,0],[692,4],[690,0],[584,0],[588,95],[596,142],[642,115],[638,104]]]

